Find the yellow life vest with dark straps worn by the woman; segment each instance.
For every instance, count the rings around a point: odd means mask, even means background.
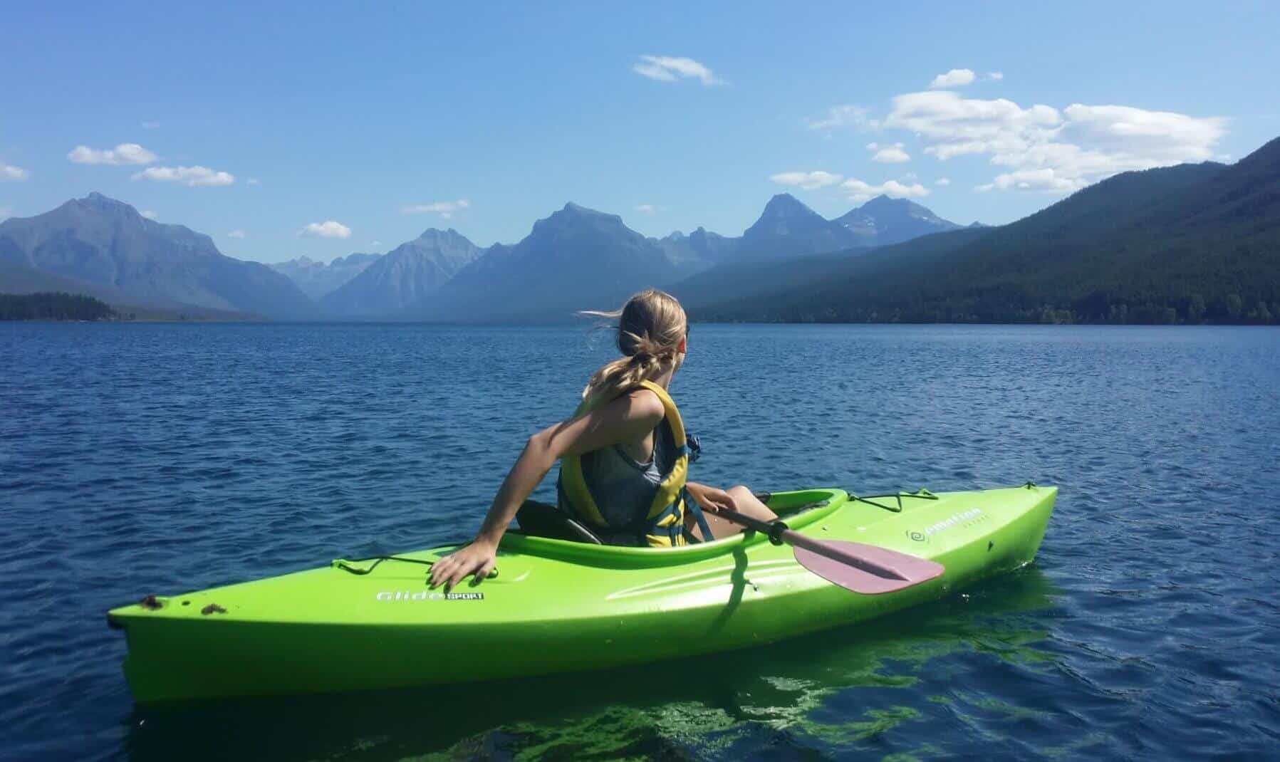
[[[653,505],[649,507],[648,515],[626,526],[609,524],[609,521],[604,517],[604,514],[600,512],[600,507],[595,503],[595,498],[591,496],[591,490],[586,485],[586,479],[582,476],[582,458],[579,456],[566,456],[561,458],[561,473],[557,488],[562,502],[567,503],[567,507],[573,514],[577,514],[580,519],[598,529],[635,530],[636,534],[644,535],[649,546],[655,548],[684,546],[686,544],[686,510],[692,511],[699,523],[705,526],[705,521],[703,520],[698,503],[685,489],[685,480],[689,475],[689,446],[685,437],[685,423],[680,419],[680,411],[676,409],[676,403],[671,400],[667,389],[663,389],[658,384],[648,380],[640,382],[640,387],[658,394],[658,400],[662,401],[664,411],[662,425],[669,428],[671,439],[676,444],[676,460],[672,464],[671,470],[663,475],[662,482],[658,484],[658,492],[653,497]],[[599,407],[609,401],[612,401],[612,398],[600,400],[594,405],[588,405],[586,401],[584,401],[577,406],[577,410],[573,411],[573,416],[576,417],[582,415],[593,407]],[[705,533],[708,530],[704,529],[703,531]]]

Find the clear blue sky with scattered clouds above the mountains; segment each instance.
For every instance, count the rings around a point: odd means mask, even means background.
[[[1280,136],[1275,3],[178,5],[0,9],[0,216],[100,191],[260,261],[566,201],[650,236],[781,191],[1006,223]]]

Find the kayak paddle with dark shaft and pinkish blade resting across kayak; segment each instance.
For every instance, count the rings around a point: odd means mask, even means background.
[[[716,515],[759,531],[776,546],[782,543],[791,546],[800,566],[846,590],[864,596],[910,588],[938,578],[946,571],[941,563],[888,548],[814,539],[787,528],[781,520],[760,521],[727,508],[721,508]]]

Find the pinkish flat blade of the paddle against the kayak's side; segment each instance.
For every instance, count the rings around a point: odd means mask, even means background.
[[[863,543],[810,540],[794,549],[796,561],[809,571],[864,596],[910,588],[946,571],[941,563]]]

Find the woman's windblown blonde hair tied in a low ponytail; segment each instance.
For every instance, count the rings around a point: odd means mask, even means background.
[[[689,319],[676,297],[650,288],[627,300],[621,309],[579,315],[617,320],[618,351],[623,357],[591,374],[582,400],[603,401],[640,385],[680,361],[680,342],[689,333]]]

